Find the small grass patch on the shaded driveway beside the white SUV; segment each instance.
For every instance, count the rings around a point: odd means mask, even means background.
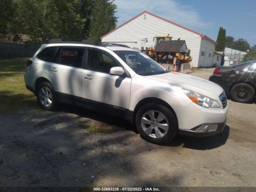
[[[106,124],[104,122],[93,121],[85,125],[79,125],[86,129],[88,132],[96,132],[96,133],[112,133],[117,128],[114,125]]]

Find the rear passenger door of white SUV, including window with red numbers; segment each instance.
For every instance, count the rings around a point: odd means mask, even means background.
[[[74,100],[82,96],[82,60],[84,47],[60,46],[52,62],[44,64],[44,70],[50,74],[54,91],[58,98]]]

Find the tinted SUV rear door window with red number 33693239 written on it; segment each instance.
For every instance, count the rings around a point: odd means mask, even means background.
[[[81,67],[84,47],[62,47],[60,52],[60,64]]]

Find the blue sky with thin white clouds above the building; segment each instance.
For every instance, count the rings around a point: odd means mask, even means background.
[[[256,0],[115,0],[114,4],[117,26],[148,11],[214,41],[222,26],[226,36],[256,44]]]

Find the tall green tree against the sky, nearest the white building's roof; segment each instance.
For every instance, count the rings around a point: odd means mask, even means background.
[[[100,37],[116,27],[117,17],[114,16],[116,5],[109,0],[94,0],[89,40],[100,41]]]

